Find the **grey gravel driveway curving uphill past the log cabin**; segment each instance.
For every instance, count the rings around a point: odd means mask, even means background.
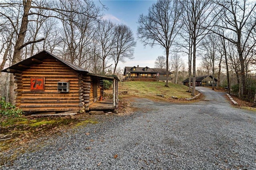
[[[199,90],[206,101],[135,99],[136,113],[96,116],[2,169],[256,169],[256,113]]]

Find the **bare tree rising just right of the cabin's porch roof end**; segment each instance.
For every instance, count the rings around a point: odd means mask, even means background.
[[[125,62],[125,59],[133,59],[134,47],[136,42],[132,30],[126,25],[117,25],[114,29],[114,47],[112,50],[112,59],[115,63],[114,74],[119,61]]]

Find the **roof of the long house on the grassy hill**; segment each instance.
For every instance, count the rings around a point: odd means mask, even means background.
[[[136,68],[135,71],[133,71],[133,68]],[[155,68],[149,68],[149,67],[124,67],[124,75],[126,73],[159,73],[159,74],[166,74],[166,69],[155,69]],[[169,74],[172,74],[172,72],[169,71]]]

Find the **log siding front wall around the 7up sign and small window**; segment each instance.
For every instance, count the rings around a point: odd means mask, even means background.
[[[44,91],[30,91],[30,77],[44,77]],[[22,111],[79,111],[79,73],[53,57],[31,65],[16,79],[16,106]],[[58,92],[60,80],[70,81],[68,93]]]

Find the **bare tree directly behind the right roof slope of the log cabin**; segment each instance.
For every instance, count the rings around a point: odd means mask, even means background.
[[[65,0],[60,4],[60,8],[67,11],[60,14],[64,31],[63,41],[67,47],[64,49],[65,55],[68,57],[66,59],[80,67],[84,62],[82,56],[87,52],[84,49],[94,37],[94,25],[100,10],[92,1],[82,3],[73,0]],[[78,12],[69,12],[68,10]],[[83,11],[86,11],[86,15],[82,13]]]

